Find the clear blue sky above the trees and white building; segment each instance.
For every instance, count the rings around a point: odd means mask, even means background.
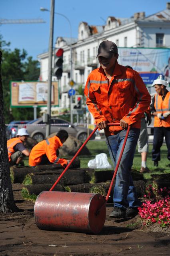
[[[70,20],[72,37],[78,37],[80,22],[89,25],[104,25],[108,16],[130,18],[135,12],[145,12],[146,16],[166,9],[168,0],[55,0],[55,12]],[[10,42],[10,49],[25,49],[28,56],[48,51],[50,36],[50,12],[42,12],[40,7],[50,10],[51,0],[0,0],[0,20],[37,19],[46,23],[0,24],[0,35]],[[57,37],[70,37],[70,25],[66,18],[54,14],[54,43]],[[54,44],[53,44],[54,45]]]

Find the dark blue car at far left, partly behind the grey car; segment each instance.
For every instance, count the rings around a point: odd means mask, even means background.
[[[25,128],[24,125],[30,122],[30,120],[24,121],[12,121],[6,126],[6,138],[7,140],[16,137],[18,132],[18,124],[20,124],[20,128]]]

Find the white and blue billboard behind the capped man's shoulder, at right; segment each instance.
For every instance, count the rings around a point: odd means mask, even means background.
[[[146,84],[158,75],[170,81],[170,48],[118,48],[120,65],[131,66]]]

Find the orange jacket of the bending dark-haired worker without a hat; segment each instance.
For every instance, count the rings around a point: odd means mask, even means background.
[[[29,165],[39,165],[44,154],[46,154],[51,163],[66,165],[67,160],[59,158],[56,155],[56,150],[60,148],[60,146],[62,146],[62,143],[57,136],[42,140],[32,148],[29,155]]]

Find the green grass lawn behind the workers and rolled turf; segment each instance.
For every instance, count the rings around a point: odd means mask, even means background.
[[[100,140],[91,140],[86,144],[87,148],[90,150],[91,155],[80,155],[80,163],[81,168],[88,167],[88,161],[90,159],[94,159],[97,154],[106,153],[108,156],[108,161],[112,165],[112,161],[110,160],[110,156],[108,153],[108,149],[106,146],[105,141]],[[25,165],[28,166],[28,158],[24,160]],[[147,167],[150,169],[150,173],[144,173],[145,179],[150,179],[151,174],[162,174],[162,173],[170,173],[170,167],[168,166],[170,161],[167,159],[167,148],[166,145],[162,145],[161,147],[161,161],[159,161],[159,166],[154,167],[152,161],[152,144],[149,145],[149,152],[148,152],[148,160],[147,160]],[[137,149],[134,156],[133,167],[132,169],[140,170],[141,167],[141,154],[138,153]],[[97,169],[100,171],[101,169]],[[102,169],[103,170],[103,169]]]

